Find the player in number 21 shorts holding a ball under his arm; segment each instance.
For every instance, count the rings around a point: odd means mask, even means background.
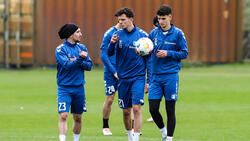
[[[132,9],[121,8],[115,16],[118,17],[122,30],[112,36],[108,55],[116,54],[116,70],[119,77],[118,103],[123,109],[123,122],[128,140],[139,141],[142,127],[141,106],[144,104],[144,87],[146,86],[145,74],[146,68],[150,68],[150,60],[149,56],[136,54],[135,42],[142,37],[147,37],[147,33],[133,24]],[[147,69],[147,72],[150,78],[150,69]],[[134,113],[134,133],[131,127],[131,109]]]

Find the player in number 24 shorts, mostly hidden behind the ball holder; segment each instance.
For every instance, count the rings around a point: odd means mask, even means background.
[[[118,85],[118,76],[115,69],[115,55],[108,56],[108,45],[110,39],[114,32],[120,29],[120,24],[117,23],[115,26],[107,30],[103,36],[102,45],[101,45],[101,59],[104,64],[104,84],[106,98],[102,107],[103,114],[103,135],[112,135],[112,132],[109,129],[109,116],[111,112],[111,106],[114,101],[114,96],[117,91]]]

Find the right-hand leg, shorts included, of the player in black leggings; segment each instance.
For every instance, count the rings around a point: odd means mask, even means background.
[[[175,103],[178,99],[179,76],[178,74],[171,74],[167,78],[168,81],[164,86],[168,130],[167,141],[172,141],[176,125]]]

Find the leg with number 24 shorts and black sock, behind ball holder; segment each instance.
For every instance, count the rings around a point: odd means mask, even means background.
[[[103,114],[103,135],[112,135],[112,132],[109,129],[109,117],[111,112],[111,106],[114,101],[115,92],[117,90],[117,81],[116,80],[106,80],[105,83],[105,93],[106,98],[102,107]]]

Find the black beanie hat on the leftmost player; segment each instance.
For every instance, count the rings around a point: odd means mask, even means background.
[[[75,24],[65,24],[62,26],[58,32],[58,35],[61,39],[67,39],[69,38],[73,33],[76,32],[78,29],[78,26]]]

